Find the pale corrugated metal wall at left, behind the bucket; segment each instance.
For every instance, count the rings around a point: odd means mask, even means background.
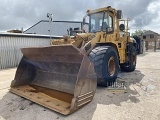
[[[59,38],[59,37],[52,37]],[[17,67],[22,53],[20,48],[49,46],[50,36],[26,34],[0,34],[0,69]]]

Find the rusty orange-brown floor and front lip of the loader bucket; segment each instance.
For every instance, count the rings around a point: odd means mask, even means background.
[[[10,91],[64,115],[70,113],[73,95],[29,85],[12,87]]]

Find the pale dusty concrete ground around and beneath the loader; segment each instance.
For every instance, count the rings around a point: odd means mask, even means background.
[[[160,120],[160,51],[138,55],[134,72],[119,73],[126,89],[97,88],[91,103],[68,116],[10,93],[15,71],[0,71],[0,120]]]

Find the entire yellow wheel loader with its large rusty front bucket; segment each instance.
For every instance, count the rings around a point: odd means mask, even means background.
[[[21,48],[10,91],[58,113],[73,113],[92,101],[97,85],[115,82],[120,69],[135,70],[136,42],[128,21],[111,6],[87,10],[80,32],[51,46]]]

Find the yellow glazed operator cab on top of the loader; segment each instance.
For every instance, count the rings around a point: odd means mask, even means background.
[[[116,26],[117,19],[122,19],[122,11],[115,10],[111,6],[97,10],[87,10],[86,16],[83,17],[83,26],[85,27],[87,24],[86,28],[88,29],[84,31],[112,33],[118,28]]]

